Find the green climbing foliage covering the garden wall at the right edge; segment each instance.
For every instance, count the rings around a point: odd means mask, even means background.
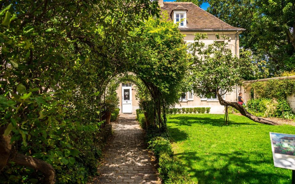
[[[245,87],[253,88],[258,98],[286,99],[287,95],[295,94],[295,80],[293,79],[253,82]]]

